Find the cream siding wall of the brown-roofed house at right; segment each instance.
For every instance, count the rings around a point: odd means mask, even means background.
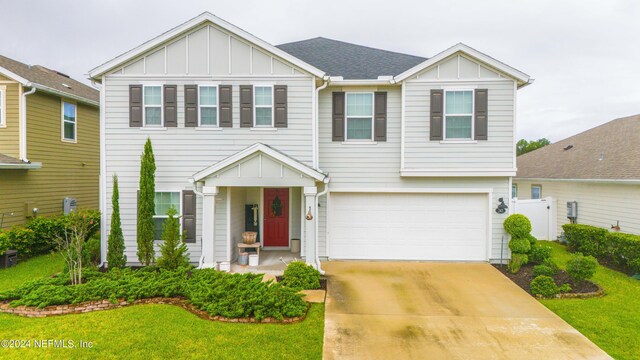
[[[597,184],[567,181],[525,181],[513,179],[518,199],[531,199],[531,185],[542,186],[542,197],[557,204],[557,234],[568,224],[567,202],[578,202],[578,224],[611,229],[620,222],[620,231],[640,235],[640,185]]]

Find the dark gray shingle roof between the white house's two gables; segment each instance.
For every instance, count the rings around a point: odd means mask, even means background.
[[[322,37],[277,45],[277,47],[330,76],[342,76],[345,79],[377,79],[378,76],[395,76],[427,60],[420,56],[374,49]]]

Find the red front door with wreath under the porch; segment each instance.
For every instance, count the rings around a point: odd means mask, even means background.
[[[264,246],[289,246],[289,189],[264,189]]]

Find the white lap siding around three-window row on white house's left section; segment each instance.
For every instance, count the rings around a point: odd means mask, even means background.
[[[147,138],[151,139],[156,160],[157,191],[181,191],[193,189],[188,179],[218,161],[229,157],[257,142],[272,146],[294,159],[312,165],[312,95],[311,76],[290,75],[269,78],[212,79],[210,76],[165,78],[163,76],[112,75],[105,78],[105,148],[107,179],[106,227],[111,217],[112,176],[118,174],[120,185],[120,207],[122,228],[127,246],[128,261],[136,262],[136,196],[140,172],[140,155]],[[178,125],[166,129],[144,129],[129,127],[129,85],[171,84],[177,87]],[[233,127],[203,129],[185,127],[184,85],[222,84],[232,85]],[[270,130],[240,128],[240,85],[287,85],[288,127]],[[222,198],[221,194],[217,198]],[[223,210],[224,209],[224,210]],[[202,199],[197,197],[196,243],[188,244],[190,259],[197,262],[201,255]],[[226,261],[226,200],[216,201],[216,214],[225,211],[224,222],[216,217],[216,261]],[[219,243],[224,241],[224,244]],[[131,254],[129,254],[129,251]],[[224,258],[223,258],[224,257]]]

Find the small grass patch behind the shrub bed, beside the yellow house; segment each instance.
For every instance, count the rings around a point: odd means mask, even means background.
[[[46,276],[51,276],[64,269],[64,260],[58,253],[35,256],[8,269],[0,269],[0,289],[13,289],[16,286]]]

